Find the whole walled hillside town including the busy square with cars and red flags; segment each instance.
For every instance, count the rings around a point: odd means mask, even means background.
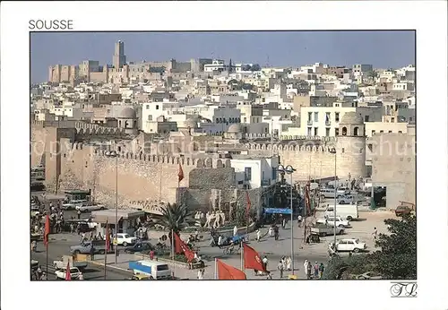
[[[414,65],[110,54],[30,87],[31,280],[332,279],[415,213]]]

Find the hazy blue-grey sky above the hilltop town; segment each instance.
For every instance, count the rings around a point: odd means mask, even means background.
[[[415,65],[414,31],[33,32],[31,82],[47,82],[48,66],[83,60],[112,64],[114,43],[126,61],[218,58],[270,66]]]

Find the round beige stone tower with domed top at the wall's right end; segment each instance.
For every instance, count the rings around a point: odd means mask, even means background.
[[[336,145],[336,175],[366,177],[366,133],[364,120],[356,112],[340,119]]]

